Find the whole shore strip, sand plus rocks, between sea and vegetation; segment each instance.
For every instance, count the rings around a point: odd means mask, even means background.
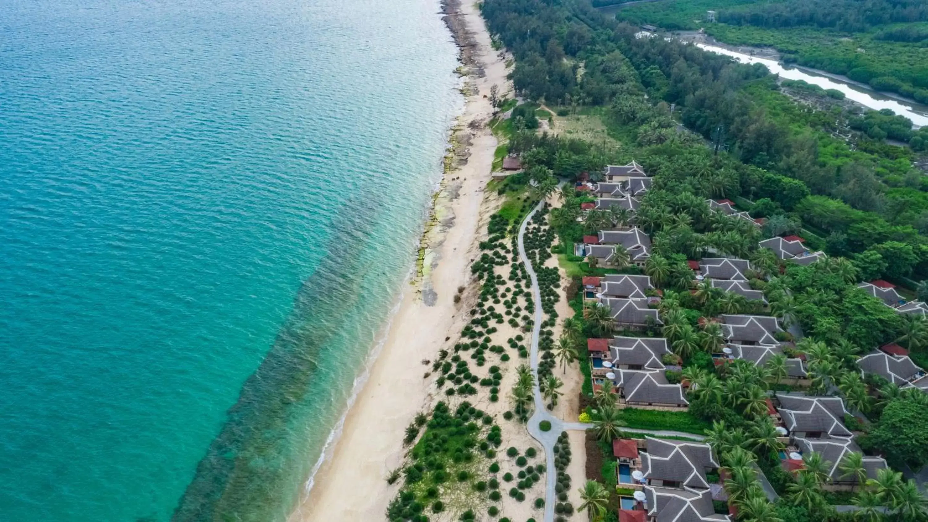
[[[313,474],[307,480],[291,522],[380,518],[399,484],[386,475],[406,453],[404,429],[431,406],[429,363],[447,348],[449,335],[462,325],[459,286],[477,249],[479,225],[492,199],[484,199],[490,181],[496,138],[486,122],[493,108],[483,95],[494,83],[508,93],[506,66],[490,45],[475,5],[442,1],[442,19],[458,45],[465,74],[465,106],[451,129],[439,188],[433,196],[420,238],[415,267],[384,325],[385,336],[355,380],[349,405],[329,434]],[[425,374],[425,376],[423,376]],[[347,491],[361,493],[349,500]]]

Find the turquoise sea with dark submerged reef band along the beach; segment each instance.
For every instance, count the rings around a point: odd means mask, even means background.
[[[286,516],[441,175],[438,10],[0,2],[0,520]]]

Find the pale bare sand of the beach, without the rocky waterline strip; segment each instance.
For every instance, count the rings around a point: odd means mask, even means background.
[[[493,113],[484,97],[497,84],[501,93],[507,89],[506,67],[490,45],[490,36],[476,6],[461,7],[470,32],[476,41],[473,57],[483,68],[483,77],[470,77],[477,88],[469,95],[464,114],[458,121],[470,129],[470,158],[453,172],[445,174],[445,193],[450,198],[445,209],[437,211],[443,223],[453,216],[450,227],[435,229],[437,237],[428,242],[434,264],[432,306],[427,305],[419,286],[407,286],[399,311],[393,318],[386,342],[372,364],[367,383],[359,391],[348,412],[342,436],[329,450],[329,458],[315,477],[315,486],[296,507],[291,522],[332,522],[337,520],[379,520],[384,517],[398,486],[389,486],[385,477],[402,463],[406,448],[404,430],[415,414],[431,407],[433,378],[423,378],[439,350],[447,349],[463,326],[462,305],[454,302],[458,286],[465,286],[470,276],[470,260],[476,255],[482,218],[495,210],[493,199],[484,201],[483,187],[490,179],[496,138],[485,122]],[[470,126],[471,122],[481,122]],[[459,188],[458,188],[459,186]],[[442,197],[439,197],[441,200]],[[443,237],[444,236],[444,237]],[[431,259],[430,255],[427,261]],[[526,434],[527,436],[527,434]]]

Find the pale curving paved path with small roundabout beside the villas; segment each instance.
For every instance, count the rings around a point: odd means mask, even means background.
[[[535,389],[533,390],[533,395],[535,397],[535,413],[532,414],[531,418],[528,420],[528,433],[532,436],[533,439],[541,443],[542,448],[545,450],[545,522],[554,522],[554,504],[556,503],[556,492],[554,490],[557,483],[557,473],[554,469],[554,444],[558,441],[558,437],[561,435],[561,431],[568,429],[575,429],[586,431],[593,427],[592,424],[577,423],[577,422],[564,422],[560,418],[549,414],[548,409],[545,408],[545,401],[541,396],[541,390],[538,388],[538,337],[541,332],[541,322],[542,322],[542,309],[541,309],[541,292],[538,289],[538,277],[535,274],[535,268],[532,266],[532,263],[528,260],[528,256],[525,254],[525,245],[523,242],[525,236],[525,229],[528,227],[528,223],[532,220],[532,217],[535,216],[535,212],[541,208],[541,205],[544,201],[540,201],[531,212],[525,216],[525,219],[522,221],[522,226],[519,227],[519,259],[525,264],[525,272],[528,273],[529,279],[532,281],[532,298],[535,301],[535,323],[532,326],[532,341],[530,343],[530,352],[529,352],[529,366],[532,368],[532,374],[535,376]],[[542,431],[539,424],[541,421],[548,421],[551,423],[551,429],[549,431]],[[705,439],[702,435],[695,435],[692,433],[683,433],[679,431],[651,431],[647,429],[636,429],[631,427],[622,428],[623,431],[631,433],[647,433],[650,435],[656,435],[659,437],[688,437],[690,439],[702,440]]]

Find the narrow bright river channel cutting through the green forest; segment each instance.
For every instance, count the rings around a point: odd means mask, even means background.
[[[701,49],[705,49],[706,51],[718,53],[720,55],[726,55],[728,57],[734,57],[741,63],[764,64],[767,66],[767,69],[770,70],[770,72],[773,74],[779,74],[780,78],[785,78],[787,80],[804,80],[807,83],[818,85],[822,89],[837,89],[844,93],[844,95],[847,96],[847,99],[856,101],[860,105],[872,108],[874,110],[880,110],[882,108],[892,109],[896,114],[909,118],[909,120],[911,120],[916,127],[928,125],[928,107],[926,106],[915,103],[902,102],[889,96],[882,95],[868,87],[862,86],[861,84],[843,82],[839,79],[826,75],[824,72],[817,74],[816,72],[808,69],[800,70],[793,67],[783,67],[779,62],[777,62],[777,60],[771,59],[769,57],[753,57],[716,45],[699,43],[695,45]]]

